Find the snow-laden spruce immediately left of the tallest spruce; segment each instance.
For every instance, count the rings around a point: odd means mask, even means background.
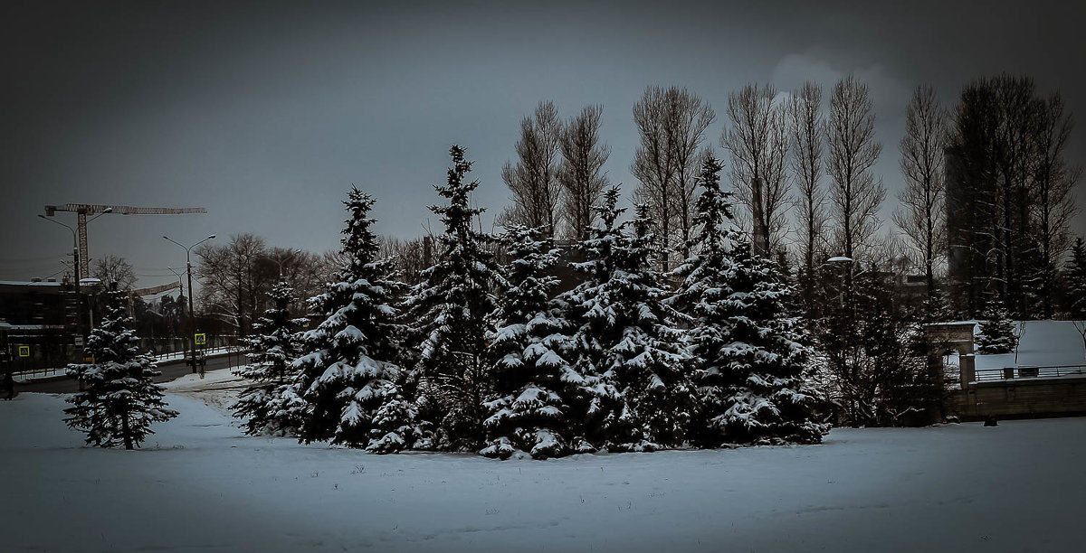
[[[390,305],[401,286],[389,260],[378,259],[368,217],[374,198],[358,189],[343,202],[351,214],[343,230],[340,282],[310,300],[326,319],[302,333],[304,353],[292,363],[293,389],[304,401],[300,439],[391,453],[418,438],[416,408],[401,384],[400,324]]]

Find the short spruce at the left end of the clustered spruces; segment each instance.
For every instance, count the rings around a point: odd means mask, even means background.
[[[233,404],[235,416],[244,420],[245,434],[253,436],[289,436],[298,433],[301,419],[296,415],[304,404],[292,388],[298,357],[295,332],[304,319],[291,319],[288,306],[294,300],[294,290],[280,282],[268,292],[272,308],[253,324],[253,335],[245,340],[252,350],[249,364],[235,374],[251,381]]]

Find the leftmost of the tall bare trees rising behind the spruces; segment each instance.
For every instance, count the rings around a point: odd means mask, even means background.
[[[513,194],[513,206],[502,216],[503,220],[533,228],[546,228],[553,235],[558,227],[558,143],[561,123],[554,102],[540,102],[534,117],[520,121],[520,140],[517,141],[517,164],[505,164],[502,180]]]

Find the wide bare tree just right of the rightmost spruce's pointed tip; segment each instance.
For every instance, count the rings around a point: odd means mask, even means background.
[[[768,255],[783,239],[787,210],[785,108],[772,85],[747,85],[728,94],[730,127],[720,142],[731,153],[732,184],[752,221],[754,252]]]

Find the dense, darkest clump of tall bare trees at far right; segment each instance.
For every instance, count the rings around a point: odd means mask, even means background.
[[[962,90],[947,153],[947,224],[959,312],[999,304],[1020,318],[1051,318],[1071,246],[1073,123],[1060,95],[1001,75]],[[1065,306],[1062,309],[1066,311]]]

